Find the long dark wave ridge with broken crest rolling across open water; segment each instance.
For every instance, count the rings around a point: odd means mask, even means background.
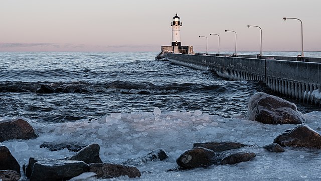
[[[151,82],[0,82],[0,93],[36,93],[36,94],[64,94],[64,93],[89,93],[89,94],[176,94],[182,92],[215,92],[223,93],[227,90],[224,85],[202,83],[164,83]]]

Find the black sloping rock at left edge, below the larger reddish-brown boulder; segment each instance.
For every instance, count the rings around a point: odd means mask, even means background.
[[[20,175],[20,165],[6,146],[0,145],[0,170],[14,170]]]

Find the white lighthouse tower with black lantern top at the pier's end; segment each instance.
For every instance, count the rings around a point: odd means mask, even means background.
[[[175,15],[175,17],[173,17],[173,22],[171,22],[171,26],[173,27],[173,32],[172,32],[173,52],[179,53],[179,50],[182,48],[181,47],[182,22],[180,21],[180,17],[178,17],[177,14]]]

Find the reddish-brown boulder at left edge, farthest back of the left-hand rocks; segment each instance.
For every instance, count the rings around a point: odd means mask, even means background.
[[[31,139],[37,136],[34,128],[23,119],[0,122],[0,142],[11,139]]]

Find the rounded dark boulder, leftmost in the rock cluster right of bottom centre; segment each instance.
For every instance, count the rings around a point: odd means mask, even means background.
[[[203,148],[194,147],[193,149],[184,152],[177,160],[177,164],[185,169],[196,168],[196,167],[206,167],[211,164],[212,158],[215,156],[214,151]]]

